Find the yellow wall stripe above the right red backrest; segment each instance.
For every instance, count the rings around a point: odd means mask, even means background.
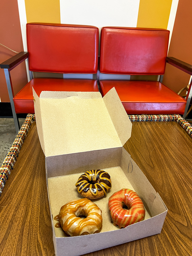
[[[137,27],[167,29],[172,0],[140,0]]]

